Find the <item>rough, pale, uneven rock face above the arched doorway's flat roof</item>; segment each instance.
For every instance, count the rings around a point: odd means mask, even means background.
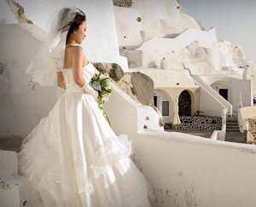
[[[238,60],[239,59],[239,60]],[[206,43],[195,41],[184,49],[175,49],[170,55],[172,68],[181,67],[182,63],[194,74],[216,74],[224,66],[241,66],[241,60],[246,60],[241,47],[231,43]]]

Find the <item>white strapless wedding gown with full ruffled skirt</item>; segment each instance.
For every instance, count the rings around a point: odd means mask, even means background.
[[[19,173],[47,207],[148,207],[154,190],[130,158],[127,135],[115,135],[96,101],[61,69],[66,92],[24,138]],[[95,67],[84,66],[87,83]]]

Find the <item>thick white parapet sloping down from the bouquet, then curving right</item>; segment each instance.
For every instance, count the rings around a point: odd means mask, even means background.
[[[132,140],[132,158],[156,192],[154,207],[253,206],[254,146],[143,129],[147,112],[125,96],[114,89],[105,107],[115,133]]]

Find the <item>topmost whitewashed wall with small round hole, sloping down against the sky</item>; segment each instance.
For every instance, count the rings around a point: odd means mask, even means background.
[[[203,29],[177,0],[133,0],[131,8],[114,7],[114,14],[119,47],[139,45],[152,37],[175,37],[187,28]]]

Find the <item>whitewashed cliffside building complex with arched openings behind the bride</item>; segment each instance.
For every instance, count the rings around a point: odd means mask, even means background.
[[[127,57],[131,71],[154,80],[155,105],[160,112],[166,107],[162,113],[166,123],[172,123],[173,100],[184,90],[190,96],[190,115],[203,111],[221,116],[221,108],[232,115],[237,112],[239,89],[244,106],[253,105],[253,82],[249,74],[242,78],[241,67],[247,63],[253,70],[255,65],[246,60],[239,46],[219,39],[214,27],[205,31],[176,0],[133,1],[131,8],[114,7],[114,13],[120,54]],[[160,69],[163,58],[168,70]],[[202,87],[206,93],[201,93]]]

